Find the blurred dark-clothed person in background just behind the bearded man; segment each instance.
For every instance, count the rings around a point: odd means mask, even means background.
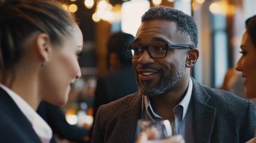
[[[134,36],[124,32],[110,35],[107,42],[107,61],[110,72],[97,80],[93,105],[94,117],[100,105],[138,91],[131,58],[128,57],[125,48],[125,44],[133,40]]]

